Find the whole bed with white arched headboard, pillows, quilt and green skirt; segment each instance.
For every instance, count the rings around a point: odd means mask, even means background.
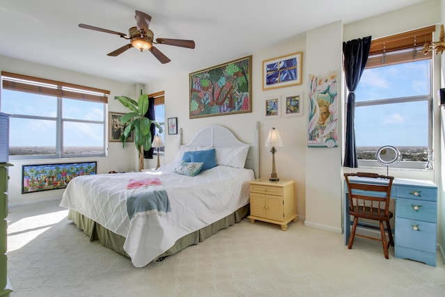
[[[181,130],[179,138],[181,143]],[[143,267],[247,216],[248,182],[259,170],[258,140],[259,123],[253,144],[211,125],[180,145],[175,161],[157,170],[72,179],[60,206],[69,209],[68,219],[90,241]],[[216,166],[208,166],[209,160]],[[196,166],[202,168],[194,175]]]

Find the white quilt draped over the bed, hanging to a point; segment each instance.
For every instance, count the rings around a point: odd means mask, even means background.
[[[74,209],[126,238],[124,250],[142,267],[171,248],[177,239],[232,214],[249,202],[252,170],[216,166],[195,177],[173,173],[177,163],[156,171],[80,176],[72,179],[60,206]],[[161,186],[127,189],[129,179],[159,178]],[[172,211],[138,214],[129,220],[126,199],[163,189]]]

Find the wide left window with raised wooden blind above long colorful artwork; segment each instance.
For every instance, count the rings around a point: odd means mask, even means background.
[[[1,72],[11,159],[105,156],[109,91]]]

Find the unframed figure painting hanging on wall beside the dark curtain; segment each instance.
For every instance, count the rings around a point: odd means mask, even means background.
[[[308,147],[337,147],[337,72],[309,75]]]

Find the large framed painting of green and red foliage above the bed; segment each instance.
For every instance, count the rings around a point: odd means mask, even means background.
[[[252,112],[252,56],[189,75],[189,118]]]

